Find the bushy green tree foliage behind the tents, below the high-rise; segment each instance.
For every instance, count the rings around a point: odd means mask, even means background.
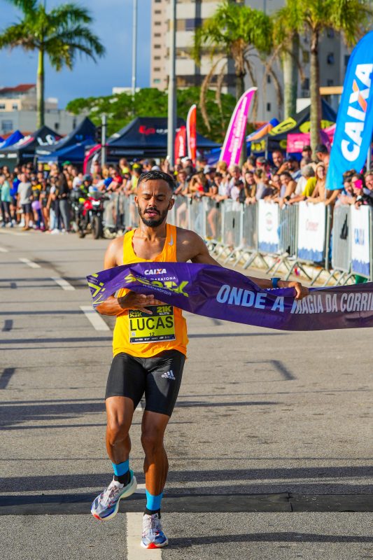
[[[236,100],[233,95],[222,94],[222,111],[218,108],[215,92],[209,90],[206,94],[206,111],[209,114],[211,131],[202,119],[199,107],[200,87],[189,87],[177,92],[178,117],[187,118],[192,104],[197,105],[197,130],[200,134],[216,142],[223,142],[227,125],[232,116]],[[118,132],[122,127],[137,117],[167,117],[167,92],[153,87],[144,87],[136,92],[134,102],[128,93],[108,95],[107,97],[80,97],[67,104],[66,109],[73,114],[86,112],[95,125],[101,123],[102,113],[106,113],[108,135]]]

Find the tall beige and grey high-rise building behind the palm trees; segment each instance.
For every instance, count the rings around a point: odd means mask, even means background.
[[[238,0],[237,0],[238,1]],[[216,0],[178,0],[176,3],[176,84],[177,87],[190,87],[201,85],[204,77],[211,69],[211,54],[202,52],[201,64],[197,66],[190,58],[190,51],[196,27],[201,25],[204,19],[209,18],[215,12],[220,2]],[[242,0],[251,8],[263,10],[268,14],[281,8],[284,0]],[[152,3],[152,26],[151,26],[151,60],[150,60],[150,87],[158,87],[164,90],[168,84],[169,73],[169,0],[153,0]],[[307,38],[301,38],[300,62],[304,70],[304,82],[298,85],[299,108],[302,109],[309,103],[309,54]],[[320,53],[320,75],[321,86],[333,87],[342,85],[344,73],[349,60],[349,50],[344,45],[341,36],[330,30],[321,39]],[[255,78],[262,90],[264,76],[263,65],[259,59],[252,60],[255,68]],[[225,64],[223,79],[223,92],[235,94],[234,64],[232,60],[223,60],[218,69]],[[283,77],[281,65],[276,64],[276,75],[281,86]],[[258,120],[268,120],[276,116],[283,117],[283,110],[279,108],[273,79],[266,80],[265,92],[258,96]],[[252,85],[246,76],[246,87]],[[327,98],[337,109],[338,98]]]

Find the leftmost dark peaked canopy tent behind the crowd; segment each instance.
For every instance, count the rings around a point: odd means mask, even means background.
[[[47,126],[42,126],[29,136],[20,139],[13,146],[0,149],[0,165],[14,167],[20,163],[34,160],[38,146],[52,146],[61,139],[61,136]]]

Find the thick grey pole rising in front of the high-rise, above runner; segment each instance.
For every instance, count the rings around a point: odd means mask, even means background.
[[[176,79],[175,79],[175,43],[176,43],[176,0],[169,3],[169,105],[167,119],[167,155],[169,165],[174,167],[174,139],[176,129]]]

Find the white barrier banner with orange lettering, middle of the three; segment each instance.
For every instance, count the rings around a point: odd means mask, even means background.
[[[323,202],[300,202],[298,216],[298,258],[321,262],[324,260],[325,211]]]

